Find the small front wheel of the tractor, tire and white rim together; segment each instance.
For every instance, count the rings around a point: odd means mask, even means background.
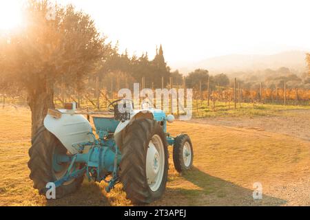
[[[193,146],[187,134],[180,134],[176,137],[173,150],[174,168],[178,173],[189,170],[193,165]]]

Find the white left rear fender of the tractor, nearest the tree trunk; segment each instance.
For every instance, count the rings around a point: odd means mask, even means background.
[[[59,111],[65,112],[63,109]],[[61,118],[54,118],[51,115],[46,115],[43,124],[50,133],[59,139],[72,155],[79,153],[77,149],[72,146],[73,144],[90,142],[92,138],[89,135],[90,131],[92,131],[92,126],[83,115],[62,114]]]

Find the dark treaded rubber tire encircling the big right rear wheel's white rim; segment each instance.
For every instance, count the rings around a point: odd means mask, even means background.
[[[152,191],[147,183],[146,157],[149,141],[155,134],[159,135],[163,142],[165,164],[161,186],[158,190]],[[166,188],[169,167],[167,146],[166,136],[160,122],[138,119],[127,126],[121,148],[120,173],[126,198],[130,199],[132,203],[151,203],[162,197]]]

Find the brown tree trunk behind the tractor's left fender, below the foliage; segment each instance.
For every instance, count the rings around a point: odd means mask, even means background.
[[[54,109],[54,89],[42,83],[37,89],[28,91],[27,101],[31,110],[31,137],[33,138],[43,124],[48,109]]]

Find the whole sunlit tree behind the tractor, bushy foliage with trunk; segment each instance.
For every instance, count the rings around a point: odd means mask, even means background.
[[[23,27],[0,40],[0,83],[27,92],[32,136],[54,108],[54,85],[65,78],[83,88],[83,79],[99,71],[112,53],[87,14],[72,5],[50,5],[47,0],[25,3]]]

